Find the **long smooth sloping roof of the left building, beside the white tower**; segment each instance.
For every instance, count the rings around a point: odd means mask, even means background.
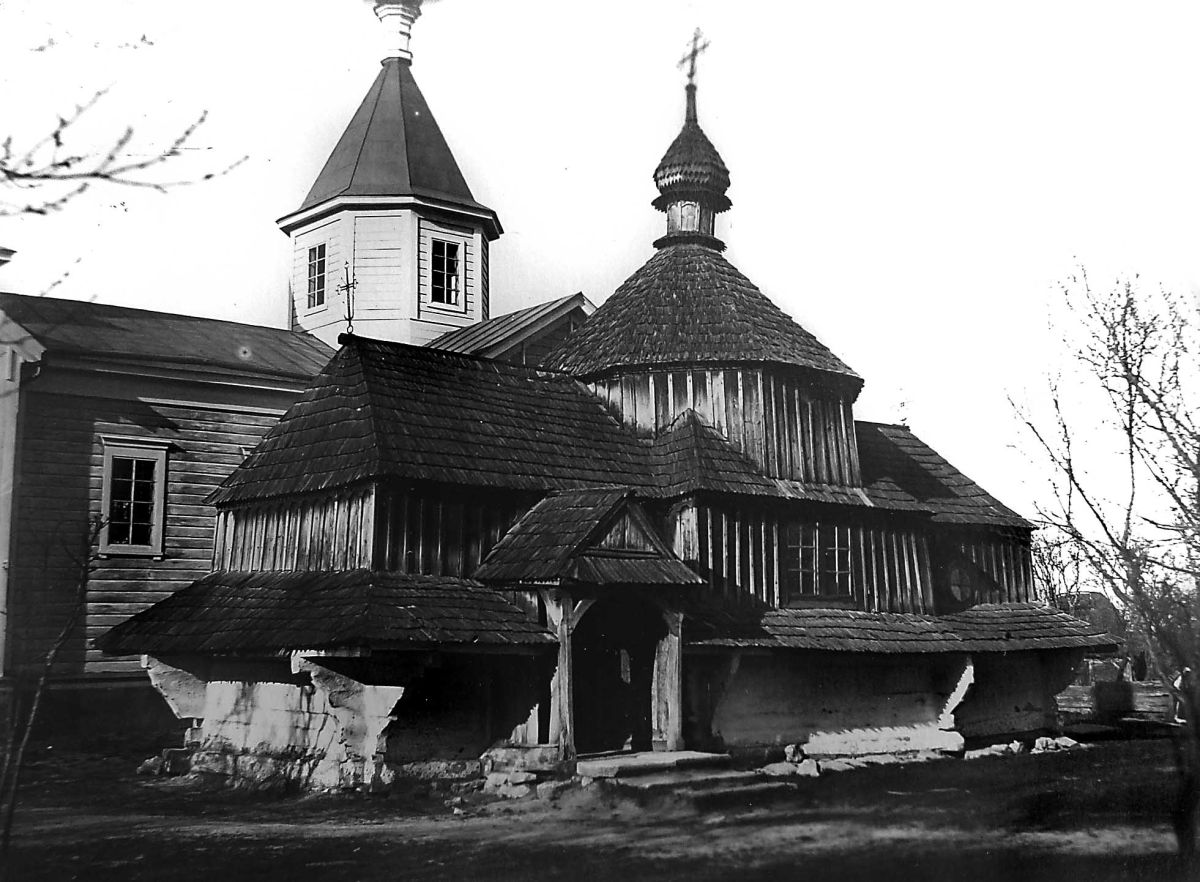
[[[334,354],[300,331],[127,306],[0,293],[0,311],[52,355],[199,365],[306,380]]]

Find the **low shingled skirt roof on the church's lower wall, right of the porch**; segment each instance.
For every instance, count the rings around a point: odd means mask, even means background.
[[[1114,637],[1037,604],[984,604],[954,616],[857,610],[696,608],[692,646],[850,653],[984,653],[1112,647]]]

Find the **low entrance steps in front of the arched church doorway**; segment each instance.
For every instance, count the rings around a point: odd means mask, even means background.
[[[575,774],[604,779],[613,791],[638,802],[670,799],[702,810],[762,805],[798,790],[794,779],[731,768],[727,754],[690,750],[584,757],[577,761]]]

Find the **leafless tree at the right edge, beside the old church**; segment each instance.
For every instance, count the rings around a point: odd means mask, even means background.
[[[1196,860],[1200,806],[1200,312],[1136,280],[1063,286],[1070,376],[1050,416],[1024,420],[1054,466],[1042,516],[1148,637],[1186,722],[1176,739],[1181,856]],[[1074,331],[1074,332],[1073,332]]]

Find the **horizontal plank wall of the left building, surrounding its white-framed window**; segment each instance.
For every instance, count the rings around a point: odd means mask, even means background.
[[[248,409],[247,409],[248,410]],[[109,554],[95,560],[84,622],[56,673],[140,673],[137,659],[110,659],[91,640],[206,574],[215,511],[205,497],[277,420],[269,413],[148,403],[31,390],[22,404],[20,478],[10,582],[8,662],[36,664],[66,619],[77,584],[74,559],[101,516],[101,436],[170,442],[161,557]]]

